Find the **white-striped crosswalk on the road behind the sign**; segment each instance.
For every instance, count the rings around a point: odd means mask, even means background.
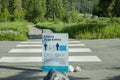
[[[102,62],[102,60],[92,54],[92,50],[87,48],[85,44],[82,44],[80,41],[69,40],[69,62]],[[0,59],[0,62],[6,63],[19,63],[19,62],[42,62],[42,56],[37,56],[37,54],[42,54],[42,42],[41,41],[26,41],[21,42],[16,45],[15,49],[11,49],[9,52],[9,57],[4,56]],[[75,55],[79,54],[79,55]],[[81,55],[84,53],[84,55]],[[87,53],[87,54],[85,54]],[[11,56],[14,54],[23,54],[23,56]],[[26,55],[24,55],[26,54]],[[33,56],[29,56],[32,54]]]

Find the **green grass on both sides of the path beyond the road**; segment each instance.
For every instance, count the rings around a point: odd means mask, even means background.
[[[27,40],[28,22],[0,23],[0,40]],[[120,38],[120,18],[84,18],[79,23],[39,22],[39,28],[51,29],[56,33],[69,33],[74,39]]]

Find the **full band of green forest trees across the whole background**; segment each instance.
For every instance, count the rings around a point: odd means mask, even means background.
[[[120,0],[0,0],[0,22],[76,22],[80,13],[119,17],[119,4]]]

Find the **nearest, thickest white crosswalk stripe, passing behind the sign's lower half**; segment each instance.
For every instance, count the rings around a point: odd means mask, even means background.
[[[69,62],[101,62],[97,56],[69,56]],[[42,62],[42,57],[2,57],[0,62]]]

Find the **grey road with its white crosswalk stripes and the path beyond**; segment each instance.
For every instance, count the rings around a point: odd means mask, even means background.
[[[37,58],[42,54],[41,33],[47,30],[35,32],[28,41],[0,41],[0,80],[43,80],[46,76]],[[120,39],[69,39],[69,56],[74,57],[70,65],[82,68],[68,72],[70,80],[120,80]]]

